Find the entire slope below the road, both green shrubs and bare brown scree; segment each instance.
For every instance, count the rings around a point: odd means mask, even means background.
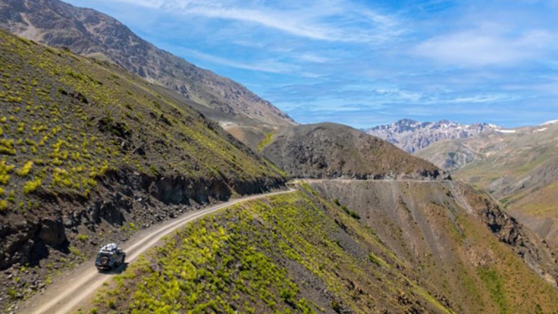
[[[558,310],[558,289],[544,279],[555,284],[552,251],[463,183],[320,181],[299,189],[186,226],[83,310]]]

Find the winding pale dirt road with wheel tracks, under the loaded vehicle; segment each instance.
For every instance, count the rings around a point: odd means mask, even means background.
[[[201,218],[211,212],[218,211],[225,207],[238,204],[239,202],[261,199],[272,195],[291,193],[296,190],[272,192],[261,195],[243,197],[237,200],[229,201],[220,205],[211,206],[205,209],[187,212],[177,219],[166,221],[165,223],[152,226],[151,228],[142,230],[124,245],[126,251],[127,263],[133,263],[142,253],[161,240],[167,234],[179,229],[190,221]],[[122,269],[120,269],[122,271]],[[60,281],[54,283],[44,292],[33,296],[24,305],[20,307],[18,312],[25,314],[66,314],[76,311],[86,299],[112,276],[107,273],[99,273],[94,265],[94,259],[84,262],[78,269],[74,270]]]

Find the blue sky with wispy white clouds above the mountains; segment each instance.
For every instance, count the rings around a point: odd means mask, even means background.
[[[558,119],[558,0],[70,0],[300,123]]]

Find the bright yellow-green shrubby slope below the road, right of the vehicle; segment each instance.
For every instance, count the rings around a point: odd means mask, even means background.
[[[323,199],[302,192],[268,197],[229,207],[167,237],[100,292],[94,306],[130,313],[421,307],[401,302],[407,297],[420,299],[430,312],[452,313],[424,289],[423,296],[405,286],[416,284],[380,257],[385,248],[377,245],[356,220]]]

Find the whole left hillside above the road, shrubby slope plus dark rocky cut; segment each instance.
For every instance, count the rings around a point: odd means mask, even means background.
[[[2,272],[2,295],[189,207],[285,182],[116,65],[0,31],[0,73],[0,269],[37,267]]]

